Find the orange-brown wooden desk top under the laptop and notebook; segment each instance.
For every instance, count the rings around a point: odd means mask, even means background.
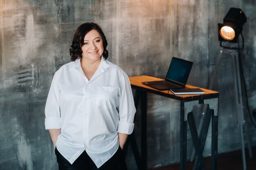
[[[138,89],[141,91],[146,91],[148,93],[153,93],[153,94],[169,97],[172,99],[177,99],[182,102],[190,102],[190,101],[194,101],[194,100],[216,98],[219,96],[219,92],[211,91],[211,90],[208,90],[205,88],[200,88],[202,91],[204,91],[204,94],[200,94],[200,95],[174,95],[171,91],[169,91],[169,93],[168,93],[168,90],[159,91],[150,86],[146,86],[145,84],[142,84],[141,82],[159,81],[159,80],[164,80],[164,79],[159,79],[159,78],[151,77],[148,75],[132,76],[132,77],[129,77],[129,79],[130,79],[130,84],[131,84],[132,88],[135,88],[135,89]],[[186,88],[199,88],[199,87],[186,85]]]

